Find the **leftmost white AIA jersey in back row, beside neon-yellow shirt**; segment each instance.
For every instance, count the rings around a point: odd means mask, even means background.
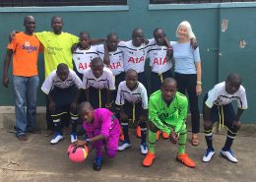
[[[83,74],[85,70],[91,67],[91,62],[96,57],[98,57],[96,47],[92,45],[87,50],[77,48],[72,55],[77,71],[81,74]]]

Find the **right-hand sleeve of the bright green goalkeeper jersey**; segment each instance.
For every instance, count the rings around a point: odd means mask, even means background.
[[[182,101],[180,101],[179,105],[178,105],[178,118],[177,118],[177,123],[176,123],[176,126],[175,126],[175,133],[179,133],[180,130],[182,129],[182,126],[186,122],[187,107],[188,107],[188,100],[184,96],[182,98]]]

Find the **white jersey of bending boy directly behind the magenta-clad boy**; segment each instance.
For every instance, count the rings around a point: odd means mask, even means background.
[[[103,68],[103,73],[99,78],[96,78],[91,69],[84,72],[83,86],[84,90],[90,87],[95,89],[115,90],[114,77],[108,68]]]

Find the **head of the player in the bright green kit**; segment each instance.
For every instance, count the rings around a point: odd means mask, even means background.
[[[169,102],[173,99],[173,96],[177,91],[177,84],[174,80],[163,82],[160,91],[162,93],[163,99],[166,102]]]

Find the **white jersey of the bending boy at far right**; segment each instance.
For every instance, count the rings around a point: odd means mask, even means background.
[[[241,109],[246,109],[248,107],[245,89],[242,86],[240,86],[239,90],[235,93],[229,94],[225,91],[225,82],[222,82],[208,92],[206,105],[209,108],[212,108],[213,105],[226,105],[233,100],[237,101],[237,106]]]

